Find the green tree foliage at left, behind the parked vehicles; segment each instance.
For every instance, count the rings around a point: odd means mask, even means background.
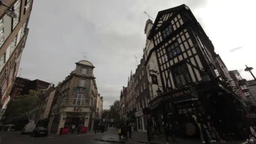
[[[29,94],[16,96],[5,112],[7,122],[27,121],[38,109],[40,91],[29,90]]]

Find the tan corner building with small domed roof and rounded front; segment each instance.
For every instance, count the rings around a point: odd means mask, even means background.
[[[59,129],[64,126],[67,117],[84,118],[84,125],[89,130],[93,128],[98,99],[98,89],[93,76],[93,68],[90,62],[79,61],[76,63],[75,70],[62,83],[59,83],[53,98],[54,106],[52,107],[48,128],[55,125],[54,117],[59,117],[56,133],[59,133]],[[77,96],[81,96],[80,94],[85,96],[85,101],[83,99],[76,100]]]

